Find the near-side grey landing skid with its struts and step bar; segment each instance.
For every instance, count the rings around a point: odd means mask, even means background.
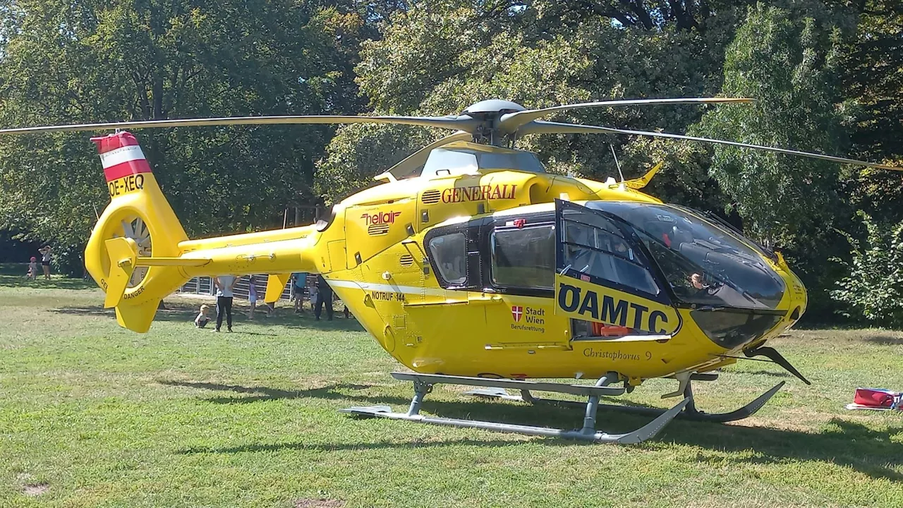
[[[668,422],[675,418],[688,404],[693,403],[693,396],[684,398],[675,407],[662,410],[656,419],[647,423],[645,426],[638,428],[632,432],[624,434],[608,434],[600,430],[596,430],[596,413],[600,407],[607,407],[606,404],[599,403],[602,395],[620,395],[624,393],[624,388],[613,387],[610,384],[619,381],[619,375],[616,372],[609,372],[600,378],[594,386],[578,385],[578,384],[561,384],[554,382],[531,382],[531,381],[515,381],[515,380],[496,380],[485,378],[470,378],[461,376],[446,376],[441,374],[414,374],[407,372],[392,372],[392,377],[396,380],[414,381],[414,398],[406,413],[396,413],[388,406],[368,406],[355,407],[348,409],[340,409],[342,412],[349,413],[358,417],[378,417],[387,419],[406,419],[418,421],[421,423],[431,423],[433,425],[447,425],[458,428],[483,428],[486,430],[494,430],[497,432],[513,432],[517,434],[526,434],[528,436],[545,436],[545,437],[567,437],[573,439],[584,439],[595,441],[597,443],[618,443],[622,445],[642,443],[651,437],[655,437],[658,432],[664,428]],[[436,384],[463,384],[470,386],[482,386],[496,389],[493,393],[504,392],[505,389],[521,390],[521,393],[529,397],[529,390],[556,391],[559,393],[570,393],[573,395],[584,395],[588,398],[585,403],[577,403],[584,406],[586,411],[583,416],[583,427],[573,430],[564,430],[561,428],[533,427],[528,425],[514,425],[507,423],[498,423],[493,421],[479,421],[470,419],[450,419],[439,417],[428,417],[420,414],[421,405],[427,393],[433,390]],[[480,391],[480,390],[476,390]],[[510,397],[510,396],[508,396]],[[531,397],[532,399],[532,397]],[[518,400],[520,400],[518,398]],[[526,399],[524,399],[526,400]]]

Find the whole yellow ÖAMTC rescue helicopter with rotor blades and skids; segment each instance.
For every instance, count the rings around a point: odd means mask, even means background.
[[[766,356],[808,383],[764,344],[805,312],[805,287],[779,252],[744,238],[714,215],[657,200],[641,189],[656,174],[606,182],[546,173],[521,136],[625,134],[802,155],[899,169],[771,146],[704,137],[544,121],[575,108],[749,102],[751,99],[628,99],[527,109],[484,100],[448,117],[284,116],[190,118],[23,127],[0,134],[116,129],[93,137],[110,202],[85,249],[85,264],[106,292],[105,306],[135,332],[147,332],[164,296],[193,277],[270,274],[274,302],[293,272],[319,273],[358,321],[412,372],[405,412],[345,409],[363,417],[407,419],[527,435],[638,443],[671,419],[731,421],[764,405],[784,382],[722,414],[694,407],[691,381],[712,381],[738,358]],[[382,182],[332,207],[328,220],[190,240],[135,136],[119,129],[261,124],[404,124],[455,132],[388,171]],[[740,356],[740,355],[743,356]],[[563,379],[569,382],[529,381]],[[594,380],[583,384],[573,380]],[[678,381],[671,409],[600,405],[651,378]],[[433,385],[481,387],[483,397],[556,402],[532,391],[580,395],[573,430],[447,419],[420,414]],[[511,395],[516,390],[520,395]],[[575,402],[572,402],[575,403]],[[595,428],[600,407],[654,414],[642,428]]]

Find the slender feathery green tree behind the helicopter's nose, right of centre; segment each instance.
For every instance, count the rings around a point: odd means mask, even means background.
[[[796,14],[796,15],[795,15]],[[728,97],[752,97],[751,106],[712,109],[694,127],[703,136],[827,154],[849,146],[840,107],[840,16],[793,13],[757,5],[727,48]],[[816,224],[838,211],[839,168],[789,155],[715,146],[710,174],[736,200],[753,234],[796,247]]]

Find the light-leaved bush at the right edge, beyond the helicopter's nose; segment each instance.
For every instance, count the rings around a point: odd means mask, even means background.
[[[880,224],[859,211],[867,231],[865,245],[842,233],[852,250],[849,261],[832,258],[848,270],[831,291],[846,304],[847,317],[863,318],[872,325],[903,327],[903,221]]]

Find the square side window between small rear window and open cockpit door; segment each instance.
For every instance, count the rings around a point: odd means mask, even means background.
[[[497,287],[553,289],[555,237],[552,224],[497,229],[490,239],[492,284]]]

